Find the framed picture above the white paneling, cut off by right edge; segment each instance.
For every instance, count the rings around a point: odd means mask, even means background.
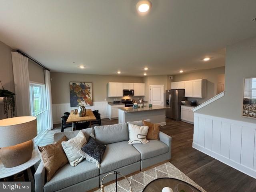
[[[256,78],[244,79],[243,116],[256,118]]]

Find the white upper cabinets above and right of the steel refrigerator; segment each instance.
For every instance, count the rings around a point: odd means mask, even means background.
[[[185,97],[205,98],[206,79],[172,82],[171,89],[185,89]]]

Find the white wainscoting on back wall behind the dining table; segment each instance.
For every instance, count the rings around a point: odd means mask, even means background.
[[[99,110],[100,118],[108,118],[108,102],[99,101],[93,102],[93,106],[85,106],[86,109]],[[64,112],[70,112],[77,109],[77,107],[70,107],[70,103],[52,104],[52,118],[53,124],[61,123],[61,117],[64,116]]]

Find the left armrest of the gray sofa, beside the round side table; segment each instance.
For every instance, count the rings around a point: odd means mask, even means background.
[[[36,192],[44,192],[44,184],[45,184],[45,168],[44,168],[44,164],[41,161],[36,173],[35,173],[35,188],[36,188]]]

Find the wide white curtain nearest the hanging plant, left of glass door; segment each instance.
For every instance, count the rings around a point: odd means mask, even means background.
[[[12,52],[17,116],[30,116],[28,58]]]

